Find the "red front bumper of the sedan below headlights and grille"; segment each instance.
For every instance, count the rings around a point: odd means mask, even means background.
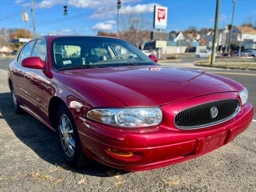
[[[204,97],[212,99],[212,96]],[[223,94],[220,97],[228,96]],[[191,102],[197,101],[190,99],[188,103]],[[175,105],[179,103],[172,104]],[[163,108],[168,108],[168,105],[162,106],[164,112]],[[168,115],[164,114],[164,117]],[[114,168],[140,171],[175,164],[215,150],[246,130],[252,118],[253,107],[246,103],[233,119],[198,130],[178,130],[170,126],[173,122],[168,119],[164,119],[160,126],[144,130],[117,130],[82,118],[76,118],[76,124],[88,158]],[[134,155],[117,156],[108,152],[107,148],[132,151]]]

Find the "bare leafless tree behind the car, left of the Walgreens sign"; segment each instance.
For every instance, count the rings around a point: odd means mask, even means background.
[[[147,20],[142,14],[123,14],[120,17],[122,31],[119,32],[120,38],[127,40],[136,46],[137,39],[142,44],[143,40],[150,39],[149,27],[150,20]]]

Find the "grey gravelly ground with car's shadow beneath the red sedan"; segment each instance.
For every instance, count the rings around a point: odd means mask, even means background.
[[[7,74],[0,70],[0,191],[256,191],[256,123],[234,142],[198,158],[143,172],[93,162],[71,169],[55,134],[12,110]]]

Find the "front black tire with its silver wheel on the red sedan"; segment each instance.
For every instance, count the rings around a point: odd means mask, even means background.
[[[62,118],[66,120],[66,124],[64,124],[64,126],[66,125],[65,128],[62,127]],[[78,136],[78,130],[76,128],[76,123],[70,110],[65,104],[60,104],[58,106],[55,130],[58,147],[62,158],[64,159],[66,164],[73,168],[78,168],[88,164],[89,159],[84,155],[84,152],[82,150],[81,142]],[[68,132],[70,132],[71,130],[73,133],[68,134]]]

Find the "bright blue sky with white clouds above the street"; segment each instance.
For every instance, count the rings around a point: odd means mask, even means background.
[[[31,0],[0,0],[0,28],[26,28],[32,31]],[[143,14],[153,26],[154,4],[168,7],[168,29],[185,30],[188,26],[213,28],[216,0],[121,0],[121,15],[129,12]],[[63,6],[68,6],[68,16],[63,16]],[[21,20],[23,5],[29,22]],[[231,23],[233,3],[221,0],[220,23]],[[239,0],[236,4],[234,25],[249,17],[256,19],[256,1]],[[98,30],[116,32],[116,0],[35,0],[36,32],[41,35],[84,34],[93,35]]]

